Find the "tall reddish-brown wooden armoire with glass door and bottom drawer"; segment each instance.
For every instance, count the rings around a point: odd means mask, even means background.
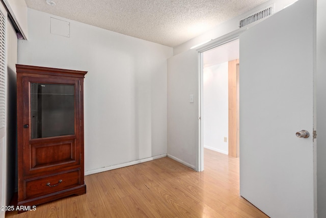
[[[86,71],[16,65],[18,206],[86,193]]]

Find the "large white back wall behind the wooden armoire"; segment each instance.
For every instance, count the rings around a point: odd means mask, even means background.
[[[56,16],[70,21],[70,37],[50,34],[50,16],[28,10],[18,63],[88,71],[86,175],[166,155],[172,48]]]

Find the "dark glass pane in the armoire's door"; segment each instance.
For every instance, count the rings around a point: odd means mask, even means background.
[[[75,134],[75,87],[30,83],[31,139]]]

